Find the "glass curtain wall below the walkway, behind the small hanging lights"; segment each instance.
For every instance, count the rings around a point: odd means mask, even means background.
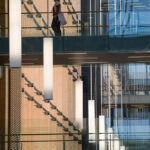
[[[92,95],[95,100],[95,117],[105,116],[106,149],[109,149],[108,129],[114,139],[128,150],[148,150],[150,140],[149,64],[92,65]],[[90,66],[82,67],[84,81],[84,119],[88,118],[90,99]],[[88,123],[85,124],[88,133]],[[96,141],[99,141],[100,124],[96,121]],[[114,140],[115,141],[115,140]],[[87,143],[86,143],[87,144]],[[87,144],[90,149],[91,144]],[[99,149],[95,142],[94,149]],[[84,145],[85,146],[85,145]]]

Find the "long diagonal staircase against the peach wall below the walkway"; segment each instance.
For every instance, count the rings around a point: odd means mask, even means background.
[[[81,145],[81,131],[76,128],[73,122],[65,116],[57,106],[49,100],[44,100],[43,93],[25,76],[25,74],[22,74],[22,78],[24,85],[27,85],[27,87],[24,86],[22,88],[22,92],[27,97],[26,100],[33,102],[36,108],[43,111],[45,116],[50,117],[51,121],[53,121],[57,127],[61,128],[73,141],[76,141],[76,144]],[[26,90],[26,88],[28,88],[28,90]],[[32,90],[34,93],[32,92],[31,94],[30,91]],[[39,98],[35,98],[37,96],[40,97],[40,100]]]

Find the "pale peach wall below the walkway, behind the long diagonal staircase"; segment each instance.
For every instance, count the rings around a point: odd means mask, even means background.
[[[34,85],[43,91],[43,67],[42,66],[23,66],[24,73]],[[58,116],[56,110],[50,108],[48,103],[43,102],[41,96],[35,94],[35,91],[26,85],[22,79],[22,87],[25,88],[34,98],[49,110],[57,119],[66,127],[69,127],[67,122],[62,121],[61,116]],[[27,100],[27,96],[22,94],[22,134],[47,134],[47,133],[64,133],[61,127],[56,125],[55,121],[51,121],[50,117],[44,115],[44,111],[37,108],[33,101]],[[52,102],[64,113],[69,119],[74,122],[75,102],[74,102],[74,82],[72,77],[68,75],[68,70],[62,66],[54,66],[54,98]],[[72,130],[72,127],[69,127]],[[26,136],[23,140],[62,140],[62,136]],[[72,140],[72,137],[65,136],[66,140]],[[41,143],[23,143],[23,150],[40,150],[53,148],[54,150],[63,150],[62,142],[41,142]],[[66,142],[66,150],[80,149],[81,145],[77,142]]]

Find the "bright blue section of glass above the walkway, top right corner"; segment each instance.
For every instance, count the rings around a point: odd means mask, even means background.
[[[150,1],[109,1],[108,24],[111,36],[150,35]]]

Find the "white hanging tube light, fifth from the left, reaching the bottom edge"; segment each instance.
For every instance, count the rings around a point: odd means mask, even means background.
[[[99,150],[106,149],[105,116],[99,116]]]

